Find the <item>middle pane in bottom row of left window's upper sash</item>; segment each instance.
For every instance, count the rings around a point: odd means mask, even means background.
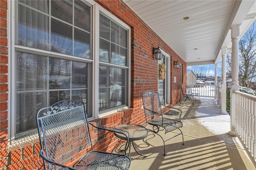
[[[72,27],[70,25],[52,19],[51,51],[72,54]]]

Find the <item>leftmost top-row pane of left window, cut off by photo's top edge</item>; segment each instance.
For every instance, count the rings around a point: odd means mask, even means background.
[[[46,0],[19,0],[19,2],[22,2],[28,6],[31,6],[32,8],[36,8],[37,10],[40,10],[48,14],[49,8],[48,1]]]

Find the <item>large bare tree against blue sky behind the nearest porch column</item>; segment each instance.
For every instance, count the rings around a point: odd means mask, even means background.
[[[227,74],[231,74],[231,55],[227,57]],[[239,41],[238,80],[244,87],[256,85],[256,22]]]

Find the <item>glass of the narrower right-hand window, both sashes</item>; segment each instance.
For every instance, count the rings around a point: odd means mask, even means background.
[[[100,14],[99,111],[127,103],[128,30]]]

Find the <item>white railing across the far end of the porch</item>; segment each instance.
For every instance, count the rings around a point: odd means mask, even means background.
[[[198,96],[202,97],[211,97],[215,96],[215,85],[212,84],[188,84],[191,87],[192,92],[199,92]]]

